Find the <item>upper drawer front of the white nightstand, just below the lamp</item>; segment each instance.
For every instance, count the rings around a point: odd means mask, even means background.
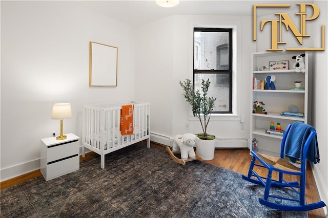
[[[76,145],[77,142],[78,140],[75,140],[63,144],[48,146],[47,163],[78,154],[79,150],[78,145]]]

